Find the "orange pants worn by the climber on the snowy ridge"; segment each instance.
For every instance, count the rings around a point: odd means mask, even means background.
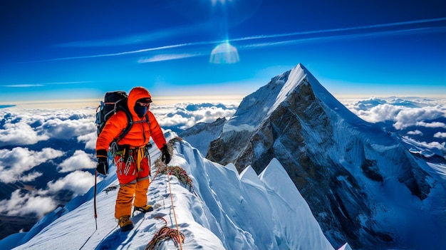
[[[128,170],[124,170],[125,162],[120,162],[119,159],[115,159],[115,162],[117,162],[116,173],[120,183],[118,197],[116,197],[115,218],[119,219],[132,214],[132,202],[135,207],[144,207],[147,204],[150,167],[147,158],[142,159],[140,171],[137,170],[135,162],[130,163]],[[134,201],[133,197],[135,197]]]

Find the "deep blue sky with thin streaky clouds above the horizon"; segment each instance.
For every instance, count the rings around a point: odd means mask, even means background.
[[[446,95],[443,0],[1,1],[0,33],[0,104],[241,98],[298,63],[340,98]]]

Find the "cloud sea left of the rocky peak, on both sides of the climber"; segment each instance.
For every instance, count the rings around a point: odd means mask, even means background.
[[[237,105],[184,103],[152,105],[150,109],[164,130],[181,132],[196,123],[230,118]],[[0,108],[0,183],[20,183],[21,187],[0,200],[0,214],[43,217],[60,204],[54,198],[58,192],[68,190],[76,196],[92,187],[95,111],[96,108]],[[42,164],[43,168],[38,167]],[[36,188],[43,175],[55,178]]]

